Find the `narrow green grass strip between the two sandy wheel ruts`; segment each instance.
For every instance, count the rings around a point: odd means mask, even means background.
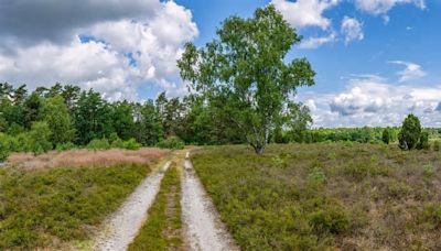
[[[129,250],[178,250],[182,248],[180,194],[180,174],[173,162],[149,209],[149,217]]]

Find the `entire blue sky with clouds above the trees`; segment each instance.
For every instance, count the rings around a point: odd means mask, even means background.
[[[1,0],[0,81],[94,88],[109,100],[182,97],[186,42],[273,4],[302,35],[315,85],[297,101],[313,127],[441,127],[441,0]]]

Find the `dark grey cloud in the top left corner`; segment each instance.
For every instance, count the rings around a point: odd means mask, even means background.
[[[77,29],[103,21],[142,19],[160,8],[158,0],[3,0],[0,35],[21,43],[68,42]]]

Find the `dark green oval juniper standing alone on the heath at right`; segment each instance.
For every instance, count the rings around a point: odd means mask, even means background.
[[[402,122],[398,134],[399,148],[401,150],[413,150],[421,135],[421,123],[415,114],[409,114]]]

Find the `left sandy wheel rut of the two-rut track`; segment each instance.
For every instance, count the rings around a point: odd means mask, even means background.
[[[150,174],[129,196],[120,209],[105,225],[105,231],[98,234],[94,250],[122,251],[127,250],[147,219],[150,206],[154,201],[163,172],[170,166],[165,163],[162,171]]]

